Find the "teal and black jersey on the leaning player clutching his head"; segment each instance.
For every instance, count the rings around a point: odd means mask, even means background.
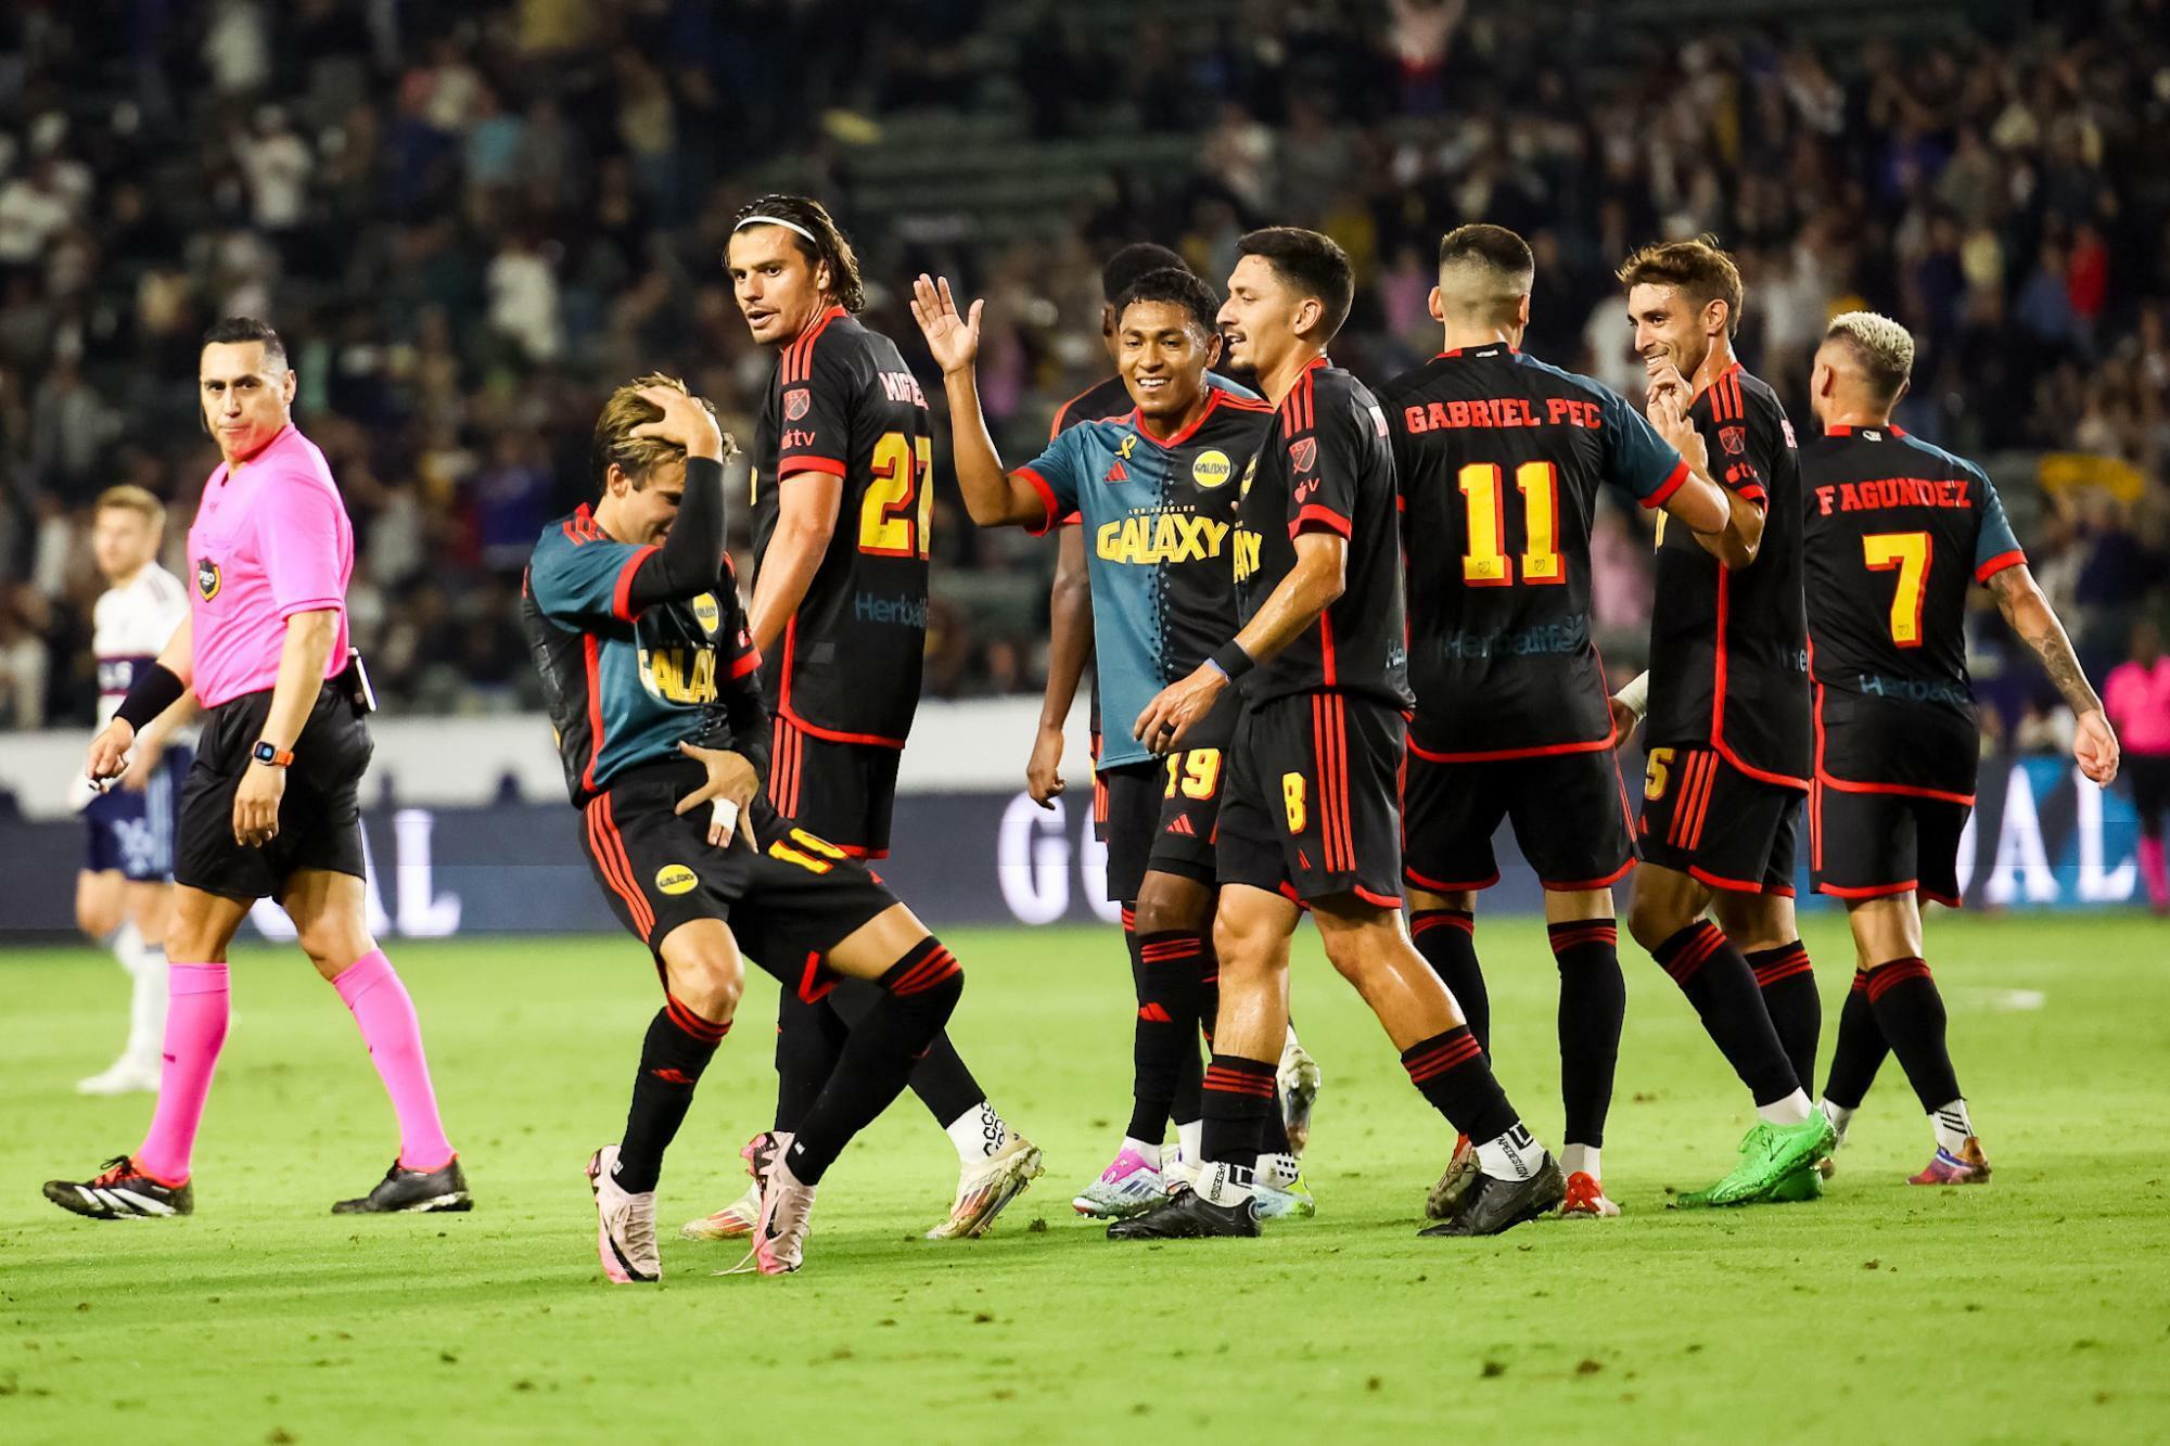
[[[729,747],[716,732],[757,690],[729,558],[712,591],[636,610],[634,573],[653,551],[612,541],[582,506],[542,530],[527,565],[521,623],[582,806],[627,769],[679,758],[679,743]]]

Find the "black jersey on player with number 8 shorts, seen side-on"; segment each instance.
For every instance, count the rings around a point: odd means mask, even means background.
[[[1243,473],[1235,586],[1243,621],[1295,567],[1300,532],[1350,541],[1345,588],[1319,621],[1243,680],[1263,703],[1337,688],[1408,708],[1408,634],[1387,415],[1348,371],[1315,358],[1282,397]]]

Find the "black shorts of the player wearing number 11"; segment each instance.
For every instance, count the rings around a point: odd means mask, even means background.
[[[1410,749],[1402,775],[1402,877],[1456,895],[1499,881],[1499,821],[1556,892],[1610,888],[1634,868],[1628,790],[1612,749],[1434,762]]]

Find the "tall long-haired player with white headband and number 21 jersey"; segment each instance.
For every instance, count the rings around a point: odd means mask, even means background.
[[[777,753],[768,801],[851,858],[881,860],[927,651],[927,397],[896,343],[859,324],[859,261],[820,202],[764,195],[744,206],[725,263],[753,341],[777,352],[753,436],[751,617]],[[846,1029],[879,1003],[855,979],[820,999],[783,992],[775,1133],[799,1129]],[[959,1159],[950,1214],[927,1235],[981,1235],[1042,1172],[1039,1149],[1009,1129],[948,1036],[911,1088]],[[749,1229],[768,1142],[755,1138],[744,1155],[755,1183],[688,1222],[688,1235]]]

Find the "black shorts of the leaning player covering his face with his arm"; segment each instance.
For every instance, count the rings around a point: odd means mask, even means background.
[[[779,819],[766,799],[753,801],[727,849],[710,847],[705,806],[673,812],[701,779],[697,769],[649,764],[588,801],[582,849],[610,910],[658,962],[671,929],[720,918],[749,960],[818,999],[829,981],[820,955],[896,895],[840,845]]]

